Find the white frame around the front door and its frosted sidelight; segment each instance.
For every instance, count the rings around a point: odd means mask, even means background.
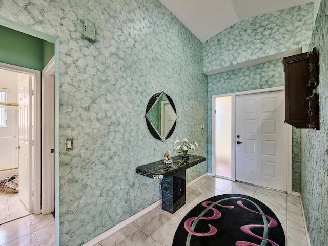
[[[227,94],[220,94],[220,95],[213,95],[212,96],[212,174],[215,176],[215,98],[217,97],[226,97],[231,96],[232,100],[232,119],[231,119],[231,180],[236,180],[236,148],[235,148],[235,138],[236,138],[236,96],[240,95],[248,95],[248,94],[257,94],[257,93],[265,93],[265,92],[272,92],[272,91],[281,91],[284,90],[284,86],[279,87],[272,87],[272,88],[265,88],[265,89],[258,89],[258,90],[251,90],[251,91],[241,91],[241,92],[234,92],[234,93],[227,93]],[[292,194],[292,127],[288,125],[287,128],[287,193]]]

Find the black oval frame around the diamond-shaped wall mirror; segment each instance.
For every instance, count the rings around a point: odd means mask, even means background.
[[[164,92],[159,92],[159,93],[154,94],[154,95],[149,99],[149,102],[148,102],[148,104],[147,104],[147,108],[146,108],[145,118],[146,118],[146,123],[147,123],[147,127],[148,127],[148,130],[149,130],[150,134],[152,134],[152,136],[153,136],[154,138],[156,138],[156,139],[158,139],[158,140],[162,140],[162,141],[164,141],[165,139],[168,139],[169,137],[171,137],[171,135],[173,134],[174,129],[175,129],[175,126],[176,126],[176,120],[175,120],[173,126],[171,127],[171,130],[170,130],[169,133],[166,135],[166,137],[165,137],[165,138],[164,138],[164,137],[162,138],[162,137],[158,134],[158,132],[154,129],[154,127],[153,127],[153,125],[151,124],[151,122],[149,122],[149,120],[148,120],[147,117],[146,117],[148,111],[153,107],[153,105],[156,103],[157,99],[158,99],[162,94],[165,94],[165,96],[168,98],[169,103],[171,104],[171,106],[172,106],[172,108],[173,108],[173,110],[174,110],[174,112],[175,112],[175,114],[176,114],[176,108],[175,108],[175,105],[174,105],[174,103],[173,103],[172,98],[171,98],[168,94],[166,94],[166,93],[164,93]]]

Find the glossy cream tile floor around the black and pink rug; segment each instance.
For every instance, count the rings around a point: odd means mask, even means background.
[[[160,205],[95,246],[171,246],[180,220],[194,206],[226,193],[252,196],[267,204],[282,224],[286,246],[308,246],[299,197],[211,176],[187,188],[186,205],[174,214],[163,211]]]

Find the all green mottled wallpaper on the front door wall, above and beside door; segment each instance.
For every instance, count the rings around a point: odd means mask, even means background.
[[[297,47],[306,46],[308,49],[313,26],[312,13],[313,3],[310,3],[236,23],[203,43],[203,71]],[[295,20],[295,24],[290,25],[290,19]],[[212,170],[212,95],[283,85],[282,59],[208,76],[208,172]],[[292,135],[292,190],[299,192],[300,131],[293,128]]]

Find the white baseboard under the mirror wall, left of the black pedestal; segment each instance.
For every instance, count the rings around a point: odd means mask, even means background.
[[[162,204],[162,199],[160,199],[160,200],[156,201],[155,203],[151,204],[151,206],[147,207],[146,209],[141,210],[139,213],[127,218],[126,220],[124,220],[122,222],[120,222],[119,224],[117,224],[115,227],[112,227],[108,231],[106,231],[104,233],[101,233],[99,236],[91,239],[90,241],[86,242],[83,245],[84,246],[94,246],[94,245],[96,245],[97,243],[99,243],[100,241],[102,241],[105,238],[109,237],[113,233],[115,233],[118,230],[124,228],[125,226],[130,224],[132,221],[136,220],[137,218],[141,217],[142,215],[144,215],[144,214],[148,213],[149,211],[151,211],[152,209],[156,208],[160,204]]]

